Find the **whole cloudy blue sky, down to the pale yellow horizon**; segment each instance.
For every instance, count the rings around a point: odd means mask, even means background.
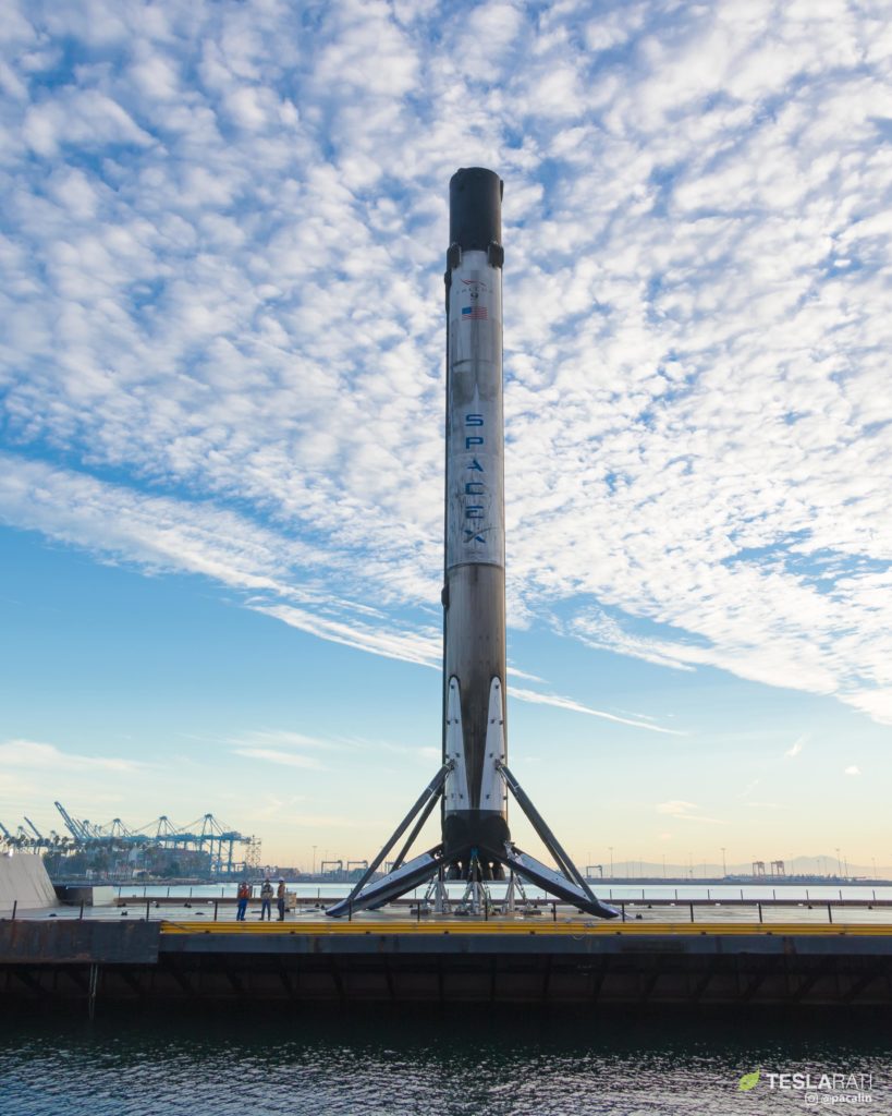
[[[433,773],[479,164],[512,766],[581,860],[892,865],[886,17],[9,4],[0,819],[309,865]]]

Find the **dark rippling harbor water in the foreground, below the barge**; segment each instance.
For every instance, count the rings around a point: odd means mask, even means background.
[[[29,1009],[0,1020],[0,1112],[736,1116],[826,1108],[814,1096],[847,1095],[844,1110],[880,1116],[892,1113],[891,1049],[888,1020],[864,1013],[231,1004],[213,1014],[106,1011],[90,1024]],[[779,1075],[815,1086],[834,1074],[847,1094],[779,1085]]]

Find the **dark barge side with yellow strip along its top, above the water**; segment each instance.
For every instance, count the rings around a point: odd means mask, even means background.
[[[892,929],[426,918],[0,922],[0,997],[214,1003],[892,1003]]]

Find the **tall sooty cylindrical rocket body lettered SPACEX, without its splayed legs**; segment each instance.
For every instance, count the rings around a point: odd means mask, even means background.
[[[505,752],[505,446],[502,191],[481,167],[449,182],[446,258],[444,791],[447,873],[484,878],[510,840]],[[495,854],[494,856],[487,854]]]

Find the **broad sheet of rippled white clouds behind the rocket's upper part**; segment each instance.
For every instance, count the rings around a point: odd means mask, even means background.
[[[2,51],[7,522],[434,662],[479,162],[511,615],[892,722],[885,6],[10,0]]]

